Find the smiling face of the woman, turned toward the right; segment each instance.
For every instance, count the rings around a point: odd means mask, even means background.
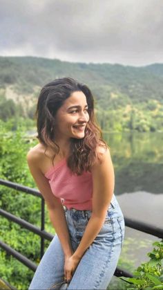
[[[86,96],[82,91],[75,91],[64,101],[55,115],[56,140],[84,138],[88,120]]]

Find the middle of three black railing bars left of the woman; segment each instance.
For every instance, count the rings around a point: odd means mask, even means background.
[[[51,241],[52,238],[54,237],[50,233],[47,233],[45,230],[40,230],[37,226],[30,224],[28,221],[25,221],[24,219],[21,219],[20,217],[16,217],[15,215],[12,215],[10,212],[7,212],[6,210],[0,209],[0,215],[2,215],[3,217],[6,217],[7,219],[10,219],[10,221],[14,221],[20,226],[23,226],[23,228],[27,228],[32,233],[35,233],[39,235],[40,237],[44,237],[45,239],[48,239],[49,241]]]

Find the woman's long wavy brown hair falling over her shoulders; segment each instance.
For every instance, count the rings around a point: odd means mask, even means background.
[[[59,153],[59,145],[55,143],[55,114],[64,104],[64,101],[75,91],[82,91],[88,104],[89,121],[86,125],[84,138],[70,138],[70,155],[67,164],[70,170],[77,175],[90,171],[90,167],[100,158],[97,147],[107,147],[102,139],[102,131],[97,125],[94,115],[94,100],[86,84],[81,84],[73,78],[59,78],[46,84],[39,94],[37,102],[37,138],[54,151]]]

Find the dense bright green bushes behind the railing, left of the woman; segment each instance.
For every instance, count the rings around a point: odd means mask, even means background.
[[[27,138],[25,132],[28,129],[28,124],[26,127],[25,123],[15,123],[15,121],[10,120],[6,123],[1,121],[0,127],[1,179],[35,188],[35,183],[32,180],[26,163],[26,154],[37,141],[33,141],[29,137]],[[25,219],[36,226],[40,226],[41,200],[39,198],[1,186],[0,206],[3,210],[21,217],[21,219]],[[52,226],[50,226],[47,210],[46,227],[49,232],[54,233]],[[0,239],[38,264],[40,259],[39,236],[1,217]],[[48,244],[49,242],[46,242],[46,247]],[[1,278],[10,282],[17,289],[27,289],[33,272],[5,251],[0,252],[0,260]]]

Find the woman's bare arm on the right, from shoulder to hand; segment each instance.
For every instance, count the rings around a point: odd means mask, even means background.
[[[115,176],[108,149],[106,153],[102,153],[102,161],[97,161],[93,165],[91,172],[93,176],[93,210],[81,242],[75,253],[69,258],[66,269],[71,273],[75,271],[82,255],[84,255],[86,249],[93,243],[101,230],[108,205],[113,197]]]

